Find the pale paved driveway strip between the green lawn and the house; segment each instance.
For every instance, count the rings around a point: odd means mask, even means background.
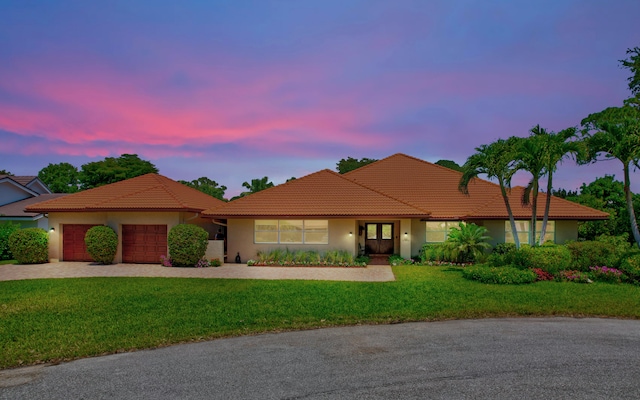
[[[168,268],[159,264],[97,265],[87,262],[0,265],[0,281],[98,276],[205,279],[301,279],[357,282],[389,282],[395,280],[391,267],[388,265],[369,265],[366,268],[247,267],[246,264],[226,264],[217,268]]]

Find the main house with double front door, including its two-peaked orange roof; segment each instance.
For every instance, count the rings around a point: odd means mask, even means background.
[[[353,254],[418,254],[425,242],[443,242],[451,227],[473,222],[488,229],[492,244],[513,241],[498,185],[475,179],[469,195],[458,190],[461,173],[404,154],[395,154],[340,175],[319,171],[225,203],[202,213],[226,220],[228,253],[256,257],[277,247],[347,250]],[[527,242],[531,208],[513,188],[516,234]],[[541,193],[542,219],[546,195]],[[578,221],[608,214],[553,197],[547,240],[578,237]]]

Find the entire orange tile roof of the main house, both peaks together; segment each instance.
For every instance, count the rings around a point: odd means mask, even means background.
[[[458,190],[461,172],[405,154],[395,154],[347,174],[323,170],[229,202],[204,214],[216,218],[270,216],[404,216],[434,220],[507,219],[500,187],[482,179]],[[514,216],[527,219],[522,188],[509,198]],[[546,195],[538,197],[543,217]],[[608,214],[552,197],[552,219],[596,220]]]

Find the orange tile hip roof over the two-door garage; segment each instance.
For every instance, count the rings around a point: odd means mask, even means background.
[[[29,212],[190,211],[219,207],[224,201],[158,174],[74,193],[27,207]]]

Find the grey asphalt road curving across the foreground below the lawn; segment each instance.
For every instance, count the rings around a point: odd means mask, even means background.
[[[355,326],[0,371],[1,399],[640,399],[640,321]]]

